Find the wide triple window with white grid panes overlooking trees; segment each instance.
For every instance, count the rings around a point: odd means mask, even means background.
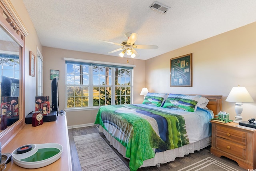
[[[130,104],[132,68],[66,61],[66,108]]]

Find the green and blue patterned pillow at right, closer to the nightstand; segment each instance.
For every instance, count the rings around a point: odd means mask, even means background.
[[[200,95],[169,94],[163,107],[194,112],[200,97]]]

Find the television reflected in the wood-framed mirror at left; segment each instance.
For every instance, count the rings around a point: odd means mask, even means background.
[[[1,76],[1,97],[18,97],[20,94],[20,80]]]

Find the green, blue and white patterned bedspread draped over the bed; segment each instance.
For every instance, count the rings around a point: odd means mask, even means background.
[[[137,170],[155,152],[189,143],[182,115],[158,111],[141,105],[106,105],[100,107],[95,124],[126,147],[130,170]]]

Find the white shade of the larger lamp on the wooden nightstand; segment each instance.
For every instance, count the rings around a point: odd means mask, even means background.
[[[229,102],[254,102],[251,95],[245,87],[233,87],[226,99]]]

